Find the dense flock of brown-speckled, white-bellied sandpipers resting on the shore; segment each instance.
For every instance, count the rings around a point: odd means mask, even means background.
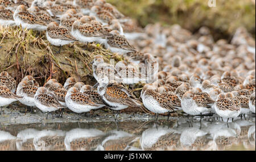
[[[50,79],[40,87],[33,76],[16,86],[6,71],[0,74],[0,106],[14,101],[53,113],[69,109],[86,113],[104,107],[146,108],[157,115],[183,112],[233,120],[255,114],[255,39],[238,28],[232,40],[213,40],[207,27],[192,35],[179,25],[137,23],[105,0],[0,0],[0,25],[45,31],[51,45],[79,41],[97,43],[123,61],[115,66],[93,57],[97,84],[70,77],[64,86]],[[59,51],[60,52],[60,51]],[[133,87],[142,83],[141,96]],[[117,118],[117,115],[115,118]],[[169,118],[169,116],[168,116]]]

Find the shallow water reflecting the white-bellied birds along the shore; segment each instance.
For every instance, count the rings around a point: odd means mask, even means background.
[[[0,123],[0,150],[255,150],[255,117],[187,121]]]

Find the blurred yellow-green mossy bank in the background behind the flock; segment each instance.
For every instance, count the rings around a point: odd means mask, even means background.
[[[255,37],[255,1],[217,0],[108,0],[124,15],[149,23],[179,24],[195,32],[202,26],[212,30],[215,40],[229,39],[238,27],[245,27]]]

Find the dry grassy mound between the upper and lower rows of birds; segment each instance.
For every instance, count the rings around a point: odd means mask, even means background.
[[[26,75],[32,75],[40,85],[51,78],[64,84],[69,76],[73,76],[79,82],[93,84],[96,80],[89,63],[94,56],[101,54],[106,62],[110,57],[116,61],[122,59],[99,44],[80,42],[64,45],[59,53],[59,47],[50,45],[44,32],[17,27],[0,29],[0,71],[7,71],[16,82]]]

